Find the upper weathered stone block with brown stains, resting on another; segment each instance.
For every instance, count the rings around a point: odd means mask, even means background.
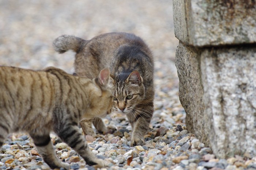
[[[173,0],[174,32],[187,45],[256,42],[255,0]]]

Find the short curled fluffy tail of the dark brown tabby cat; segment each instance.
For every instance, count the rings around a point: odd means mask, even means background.
[[[61,35],[53,41],[54,50],[59,53],[65,53],[73,50],[78,53],[86,40],[73,35]]]

